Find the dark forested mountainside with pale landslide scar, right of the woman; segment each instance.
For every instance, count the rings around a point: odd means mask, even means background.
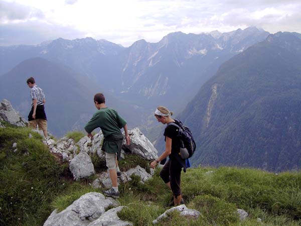
[[[196,165],[301,168],[301,39],[269,35],[223,63],[179,115]]]

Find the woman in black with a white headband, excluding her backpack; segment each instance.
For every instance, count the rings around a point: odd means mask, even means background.
[[[185,159],[182,159],[180,156],[180,139],[178,137],[179,128],[176,127],[174,119],[171,118],[173,112],[170,112],[168,108],[164,106],[159,106],[155,111],[155,117],[158,122],[162,124],[167,124],[167,127],[164,131],[165,136],[165,151],[162,155],[152,163],[150,167],[153,169],[164,159],[169,157],[169,160],[164,165],[163,169],[160,172],[160,177],[163,181],[171,188],[174,195],[174,205],[180,205],[182,199],[181,192],[181,171],[184,168],[186,172],[186,162]]]

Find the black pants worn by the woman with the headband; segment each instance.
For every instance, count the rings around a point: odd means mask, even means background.
[[[165,183],[171,182],[171,188],[175,197],[181,192],[181,171],[182,165],[177,160],[168,160],[160,172],[160,177]]]

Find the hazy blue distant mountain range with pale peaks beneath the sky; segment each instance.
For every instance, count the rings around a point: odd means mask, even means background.
[[[41,57],[70,67],[135,104],[177,107],[179,101],[191,99],[225,60],[268,34],[257,28],[199,35],[176,32],[158,43],[139,40],[128,48],[92,38],[0,47],[0,75],[23,60]]]

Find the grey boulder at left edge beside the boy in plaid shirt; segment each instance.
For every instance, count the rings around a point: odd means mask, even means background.
[[[28,123],[7,99],[0,103],[0,121],[6,121],[18,127],[25,127]]]

